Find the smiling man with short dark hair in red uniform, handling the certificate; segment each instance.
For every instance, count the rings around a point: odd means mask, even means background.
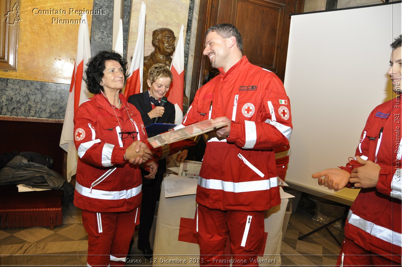
[[[197,187],[195,232],[201,265],[258,265],[263,245],[264,211],[281,203],[274,148],[288,146],[290,102],[281,80],[248,62],[242,37],[231,24],[205,34],[204,55],[220,72],[202,86],[182,125],[224,121],[207,140]]]

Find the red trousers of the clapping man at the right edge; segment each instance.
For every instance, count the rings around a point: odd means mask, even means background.
[[[363,249],[353,240],[345,238],[336,266],[401,266],[396,261],[384,258]]]

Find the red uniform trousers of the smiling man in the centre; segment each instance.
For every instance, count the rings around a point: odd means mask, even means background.
[[[263,211],[226,211],[198,204],[194,228],[200,245],[200,265],[230,265],[230,255],[224,256],[229,234],[232,265],[258,266],[257,256],[264,240]]]

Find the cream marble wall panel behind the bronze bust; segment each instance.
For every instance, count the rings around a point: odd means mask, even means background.
[[[143,0],[132,0],[131,22],[127,44],[127,60],[130,62],[137,41],[138,17]],[[176,46],[180,27],[184,25],[186,38],[187,18],[189,15],[189,0],[144,0],[146,4],[144,55],[149,55],[152,47],[152,31],[160,27],[172,29],[176,35]]]

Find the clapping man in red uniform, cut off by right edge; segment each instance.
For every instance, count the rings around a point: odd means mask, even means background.
[[[391,44],[388,70],[396,98],[370,113],[356,159],[346,167],[312,175],[319,185],[334,191],[345,186],[361,188],[349,210],[337,266],[401,266],[401,46],[402,35]]]

